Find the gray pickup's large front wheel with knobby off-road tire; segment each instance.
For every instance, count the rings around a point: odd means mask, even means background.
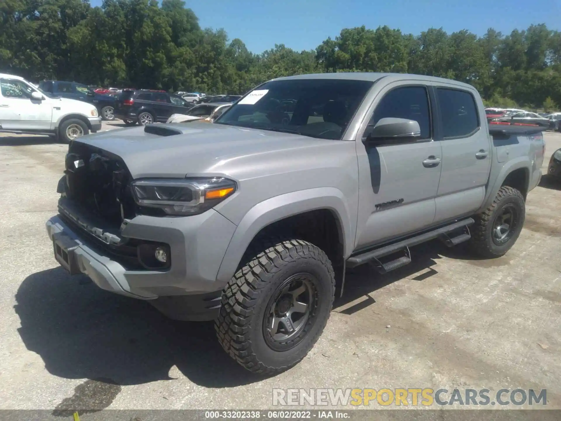
[[[335,291],[327,255],[302,240],[263,242],[222,295],[218,340],[254,373],[275,374],[296,365],[318,340]]]

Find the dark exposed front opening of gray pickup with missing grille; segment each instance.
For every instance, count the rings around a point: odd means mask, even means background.
[[[155,249],[168,250],[167,244],[122,235],[137,214],[131,181],[120,157],[73,142],[65,159],[65,176],[57,187],[59,215],[91,247],[126,269],[168,269],[169,259],[160,262],[155,258]]]

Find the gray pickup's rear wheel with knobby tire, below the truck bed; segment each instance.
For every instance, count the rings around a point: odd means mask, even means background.
[[[472,251],[484,258],[507,253],[522,231],[525,212],[522,194],[513,187],[500,187],[490,207],[475,217],[470,240]]]

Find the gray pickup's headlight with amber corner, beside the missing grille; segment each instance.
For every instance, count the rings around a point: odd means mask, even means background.
[[[132,182],[135,202],[140,207],[159,208],[170,216],[203,213],[234,191],[236,182],[222,177]]]

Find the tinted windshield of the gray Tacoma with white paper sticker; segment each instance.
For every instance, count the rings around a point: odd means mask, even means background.
[[[233,104],[215,123],[340,140],[372,85],[350,79],[274,80]]]

